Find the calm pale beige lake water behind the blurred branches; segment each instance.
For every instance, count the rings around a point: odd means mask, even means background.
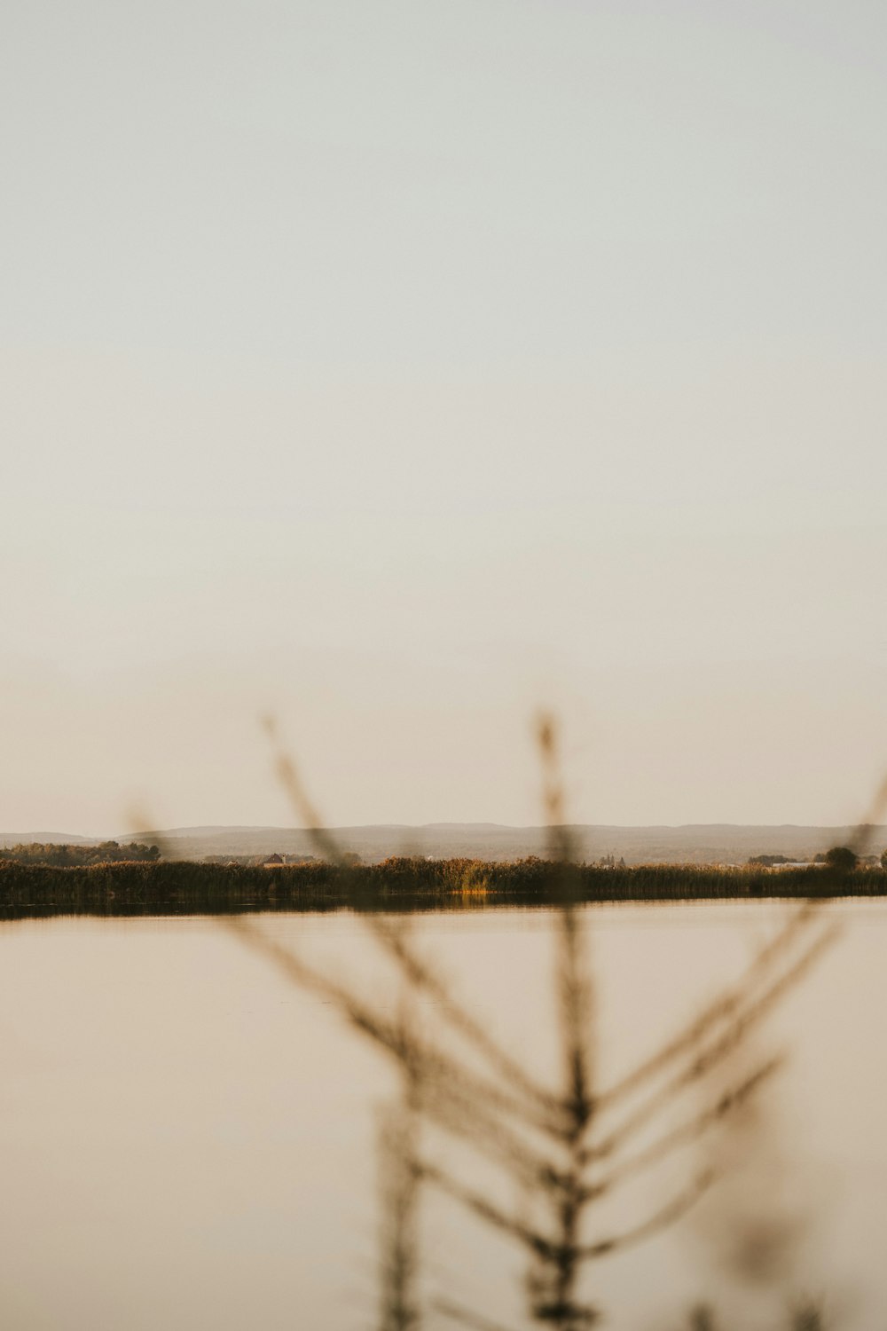
[[[601,1077],[738,974],[785,909],[588,909]],[[813,1292],[834,1326],[887,1326],[887,906],[828,910],[840,940],[755,1041],[754,1057],[787,1049],[787,1069],[753,1131],[721,1141],[725,1182],[699,1209],[600,1263],[606,1324],[669,1331],[711,1298],[725,1327],[775,1328],[791,1298]],[[355,917],[259,922],[394,1004]],[[545,912],[499,910],[414,925],[472,1010],[540,1074],[555,1067],[551,928]],[[328,1004],[207,920],[3,924],[0,957],[0,1326],[372,1326],[374,1141],[395,1083]],[[423,1020],[434,1017],[428,1005]],[[697,1149],[670,1178],[634,1187],[622,1211],[601,1213],[601,1234],[698,1163]],[[743,1235],[762,1227],[773,1260],[741,1278]],[[443,1199],[426,1210],[423,1240],[430,1298],[459,1295],[523,1324],[509,1243]]]

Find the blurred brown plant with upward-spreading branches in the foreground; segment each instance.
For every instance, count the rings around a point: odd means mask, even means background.
[[[596,1065],[597,1006],[588,933],[580,928],[582,873],[570,860],[564,829],[555,732],[540,723],[551,858],[544,890],[555,908],[556,1030],[560,1074],[553,1086],[529,1074],[461,1005],[435,966],[415,948],[408,920],[371,914],[371,938],[392,965],[399,990],[395,1014],[378,994],[334,981],[269,937],[257,921],[230,926],[290,980],[320,994],[386,1054],[400,1081],[398,1103],[380,1134],[383,1181],[382,1331],[416,1331],[422,1320],[418,1214],[422,1190],[435,1189],[481,1225],[505,1235],[525,1259],[527,1318],[557,1331],[585,1331],[602,1316],[589,1296],[596,1263],[666,1229],[718,1179],[717,1167],[692,1173],[658,1207],[624,1229],[594,1233],[600,1205],[723,1126],[750,1105],[779,1066],[751,1059],[751,1038],[777,1004],[802,980],[835,929],[814,901],[798,905],[745,976],[697,1017],[621,1077],[601,1085]],[[277,769],[297,813],[318,824],[291,760]],[[326,833],[318,848],[335,861]],[[347,872],[347,870],[342,870]],[[819,870],[821,893],[839,888],[842,862]],[[420,1002],[434,1029],[416,1021]],[[745,1067],[737,1070],[745,1058]],[[483,1161],[512,1186],[520,1206],[484,1189],[459,1150]],[[464,1154],[464,1151],[463,1151]],[[504,1331],[495,1314],[456,1295],[434,1300],[439,1315],[476,1331]],[[698,1307],[694,1331],[715,1331],[714,1312]],[[793,1331],[817,1331],[811,1306],[790,1316]]]

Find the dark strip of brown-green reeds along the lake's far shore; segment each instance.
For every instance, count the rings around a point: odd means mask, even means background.
[[[415,912],[552,906],[564,865],[392,857],[382,864],[249,866],[117,860],[47,865],[0,858],[0,918],[185,916],[262,912]],[[743,868],[646,864],[570,870],[581,904],[884,897],[884,868]]]

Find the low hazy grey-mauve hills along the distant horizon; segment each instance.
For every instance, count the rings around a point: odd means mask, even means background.
[[[548,829],[507,827],[497,823],[376,824],[330,828],[343,852],[359,855],[367,862],[392,855],[423,855],[434,858],[468,856],[485,860],[516,860],[544,855]],[[682,827],[614,827],[576,824],[569,828],[576,856],[593,861],[605,856],[626,864],[745,864],[754,855],[783,855],[807,860],[850,841],[848,827],[686,824]],[[41,841],[96,845],[104,837],[82,837],[52,832],[0,833],[0,848],[16,843]],[[257,857],[317,855],[311,833],[303,828],[277,827],[195,827],[168,831],[120,833],[121,844],[158,844],[165,858],[202,860],[211,857]],[[887,847],[887,827],[872,829],[870,851]]]

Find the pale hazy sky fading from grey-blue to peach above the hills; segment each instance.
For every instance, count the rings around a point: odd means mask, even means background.
[[[887,9],[0,12],[0,831],[858,816]]]

